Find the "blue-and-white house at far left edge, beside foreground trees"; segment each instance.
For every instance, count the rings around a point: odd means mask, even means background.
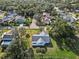
[[[4,33],[2,35],[1,47],[7,48],[13,40],[13,35],[11,33]]]

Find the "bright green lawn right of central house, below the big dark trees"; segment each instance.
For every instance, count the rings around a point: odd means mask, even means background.
[[[53,48],[52,49],[49,48],[46,55],[52,55],[58,58],[65,57],[68,59],[76,59],[76,56],[73,52],[67,51],[67,50],[64,50],[64,51],[60,50],[54,40],[52,40],[52,44],[53,44]]]

